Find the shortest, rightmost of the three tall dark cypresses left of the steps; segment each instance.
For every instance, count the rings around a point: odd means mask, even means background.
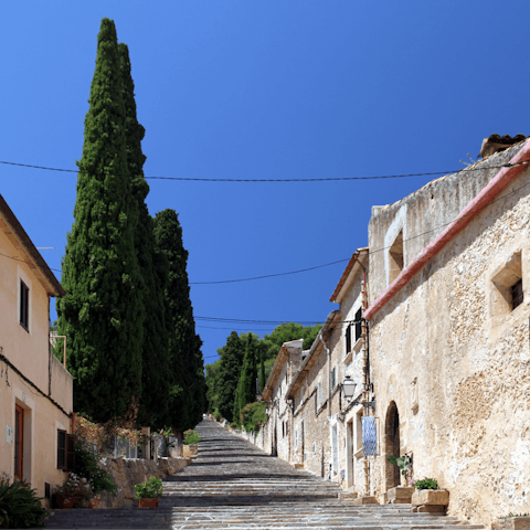
[[[194,427],[202,418],[206,388],[202,340],[195,333],[190,300],[188,251],[182,245],[182,229],[174,210],[157,213],[155,239],[169,263],[169,279],[165,293],[172,374],[169,414],[173,428],[186,431]]]

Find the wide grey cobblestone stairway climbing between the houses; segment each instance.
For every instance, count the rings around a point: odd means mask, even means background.
[[[456,518],[413,513],[410,505],[358,506],[340,487],[266,455],[215,422],[203,421],[193,464],[163,483],[153,509],[61,510],[46,528],[410,530],[481,529]]]

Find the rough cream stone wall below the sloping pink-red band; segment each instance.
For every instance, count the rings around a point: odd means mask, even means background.
[[[529,183],[527,170],[371,322],[381,489],[384,422],[395,402],[401,453],[413,454],[414,477],[437,479],[451,492],[449,512],[473,521],[530,510]],[[428,195],[437,191],[432,184]],[[418,193],[416,203],[431,201]],[[407,212],[413,213],[411,205]],[[377,221],[375,215],[371,227]],[[370,245],[379,247],[383,237],[383,230],[371,232]],[[518,252],[524,301],[499,317],[492,278]],[[380,259],[373,258],[371,271]],[[372,300],[381,285],[371,284]]]

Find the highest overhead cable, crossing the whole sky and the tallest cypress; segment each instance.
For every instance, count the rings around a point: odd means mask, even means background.
[[[78,169],[64,169],[64,168],[50,168],[46,166],[34,166],[31,163],[22,162],[9,162],[7,160],[0,160],[0,163],[7,166],[17,166],[21,168],[43,169],[45,171],[60,171],[63,173],[84,173],[92,174],[88,171],[80,171]],[[350,181],[350,180],[378,180],[378,179],[406,179],[411,177],[435,177],[441,174],[459,173],[460,171],[484,171],[485,169],[500,169],[500,168],[513,168],[527,161],[517,163],[502,163],[500,166],[489,166],[488,168],[460,168],[452,171],[431,171],[423,173],[402,173],[402,174],[382,174],[371,177],[321,177],[312,179],[206,179],[202,177],[144,177],[146,180],[178,180],[178,181],[191,181],[191,182],[330,182],[330,181]],[[131,177],[130,174],[116,174],[116,177]]]

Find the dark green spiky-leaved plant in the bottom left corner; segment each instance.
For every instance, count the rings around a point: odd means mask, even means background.
[[[23,480],[10,484],[0,476],[0,527],[33,528],[42,524],[49,511],[41,505],[36,490]]]

